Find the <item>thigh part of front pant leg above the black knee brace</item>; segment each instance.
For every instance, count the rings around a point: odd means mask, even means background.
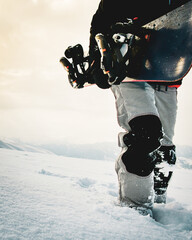
[[[148,83],[121,83],[113,85],[111,90],[116,99],[118,123],[126,131],[130,131],[129,122],[138,116],[159,117],[155,105],[155,90]]]

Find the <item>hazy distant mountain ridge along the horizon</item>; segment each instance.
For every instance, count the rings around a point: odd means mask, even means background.
[[[23,143],[13,139],[0,139],[0,148],[14,149],[18,151],[29,151],[38,153],[52,153],[56,155],[98,159],[115,160],[121,149],[115,142],[104,142],[95,144],[72,144],[72,143],[50,143],[35,145]],[[177,156],[192,159],[192,146],[177,146]]]

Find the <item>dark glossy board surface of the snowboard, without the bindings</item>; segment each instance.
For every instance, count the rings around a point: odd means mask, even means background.
[[[123,82],[181,80],[192,64],[192,1],[143,27],[147,39],[135,41]]]

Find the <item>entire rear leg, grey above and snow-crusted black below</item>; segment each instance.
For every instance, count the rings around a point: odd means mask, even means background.
[[[177,89],[161,86],[156,91],[156,106],[164,129],[161,148],[156,152],[157,163],[154,169],[155,202],[166,203],[167,188],[176,163],[173,136],[177,115]]]

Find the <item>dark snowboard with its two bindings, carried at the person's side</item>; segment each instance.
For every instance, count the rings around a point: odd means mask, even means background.
[[[127,29],[126,27],[123,29],[124,34],[131,35],[131,37],[129,36],[121,47],[130,44],[128,53],[125,54],[128,60],[125,67],[116,67],[120,69],[121,76],[116,79],[113,77],[112,81],[110,74],[114,72],[113,57],[110,51],[106,51],[108,43],[104,37],[100,39],[103,39],[103,42],[100,41],[98,47],[101,59],[104,57],[104,64],[111,66],[112,71],[106,71],[106,66],[103,66],[103,71],[100,69],[94,80],[92,69],[95,65],[100,66],[100,63],[95,63],[97,60],[90,63],[89,56],[84,57],[79,44],[66,50],[65,56],[72,58],[72,63],[65,57],[62,57],[60,62],[68,71],[69,82],[73,88],[83,88],[94,83],[101,88],[109,88],[120,82],[135,81],[171,82],[173,84],[185,77],[192,66],[192,0],[185,1],[185,4],[142,27],[136,27],[136,31],[130,31],[135,26],[132,28],[127,26]],[[114,35],[111,38],[113,37]],[[116,48],[119,48],[119,45],[118,42]],[[97,79],[101,83],[98,84]],[[102,82],[105,82],[104,87]]]

